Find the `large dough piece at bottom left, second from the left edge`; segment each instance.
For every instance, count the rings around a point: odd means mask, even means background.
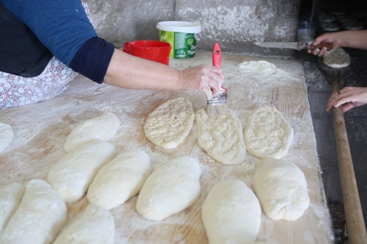
[[[5,226],[1,244],[49,244],[66,219],[66,205],[60,195],[43,180],[25,185],[23,198]]]

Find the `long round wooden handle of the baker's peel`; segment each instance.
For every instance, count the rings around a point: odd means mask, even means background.
[[[340,83],[341,81],[334,79],[331,84],[333,93],[339,91]],[[366,226],[358,194],[352,154],[345,127],[344,114],[340,107],[333,108],[333,122],[344,212],[347,222],[348,243],[367,244]]]

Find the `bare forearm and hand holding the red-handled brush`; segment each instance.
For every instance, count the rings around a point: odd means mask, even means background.
[[[212,98],[223,81],[222,71],[211,65],[176,70],[115,49],[104,83],[128,89],[203,91]]]

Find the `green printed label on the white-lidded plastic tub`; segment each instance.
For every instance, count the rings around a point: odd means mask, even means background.
[[[159,40],[172,45],[170,57],[188,58],[195,55],[196,34],[160,30]]]

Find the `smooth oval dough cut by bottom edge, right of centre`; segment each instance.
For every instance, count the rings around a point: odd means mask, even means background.
[[[260,230],[261,207],[245,183],[223,180],[206,196],[201,217],[209,244],[252,244]]]

